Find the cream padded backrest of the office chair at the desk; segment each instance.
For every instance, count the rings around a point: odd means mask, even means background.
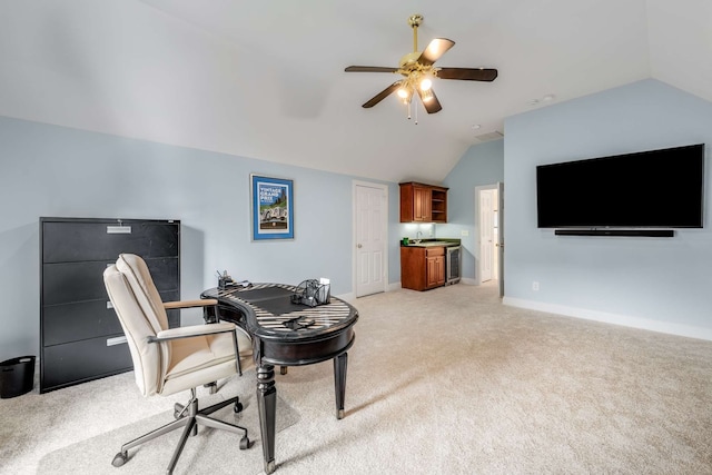
[[[168,329],[168,317],[144,259],[121,254],[103,271],[103,283],[126,334],[136,384],[144,396],[162,389],[170,362],[170,345],[148,343],[148,337]]]

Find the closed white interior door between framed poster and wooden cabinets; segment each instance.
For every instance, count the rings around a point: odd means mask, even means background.
[[[387,188],[355,185],[356,297],[385,291]]]

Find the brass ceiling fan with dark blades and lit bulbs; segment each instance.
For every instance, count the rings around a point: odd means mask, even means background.
[[[392,92],[396,92],[398,98],[411,107],[413,96],[417,93],[428,113],[435,113],[443,109],[439,100],[433,91],[433,79],[457,79],[463,81],[486,81],[492,82],[497,77],[496,69],[488,68],[436,68],[433,66],[447,50],[455,46],[455,41],[446,38],[435,38],[423,50],[418,51],[418,27],[423,23],[422,14],[413,14],[408,17],[408,24],[413,28],[413,52],[400,58],[400,65],[397,68],[379,67],[379,66],[349,66],[346,72],[394,72],[402,75],[404,79],[399,79],[378,92],[372,99],[363,105],[370,108],[384,100]],[[409,112],[408,112],[408,118]]]

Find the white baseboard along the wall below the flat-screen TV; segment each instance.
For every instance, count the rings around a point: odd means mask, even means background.
[[[585,308],[567,307],[564,305],[546,304],[542,301],[526,300],[513,297],[504,297],[502,299],[502,303],[512,307],[546,311],[550,314],[564,315],[567,317],[582,318],[585,320],[602,321],[605,324],[621,325],[624,327],[640,328],[669,335],[712,340],[712,329],[710,328],[680,325],[670,321],[650,320],[646,318],[631,317],[627,315],[609,314],[605,311],[589,310]]]

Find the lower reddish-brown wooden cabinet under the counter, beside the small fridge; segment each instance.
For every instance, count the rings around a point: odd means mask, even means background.
[[[427,290],[445,285],[445,247],[400,247],[400,286]]]

